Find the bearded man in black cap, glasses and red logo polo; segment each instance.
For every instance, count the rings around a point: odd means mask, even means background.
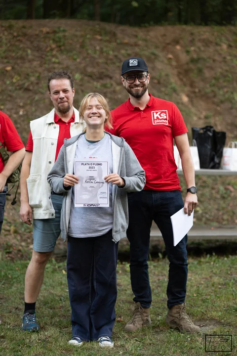
[[[158,225],[169,259],[168,312],[165,322],[174,329],[199,332],[185,307],[187,235],[174,247],[170,217],[184,207],[191,215],[197,205],[195,171],[187,128],[177,106],[148,92],[150,74],[142,58],[131,57],[122,64],[121,82],[129,99],[112,110],[112,134],[125,138],[146,173],[144,189],[128,193],[130,276],[135,308],[125,330],[133,332],[151,324],[152,292],[148,274],[150,229]],[[187,195],[183,204],[174,161],[173,140],[179,150]]]

